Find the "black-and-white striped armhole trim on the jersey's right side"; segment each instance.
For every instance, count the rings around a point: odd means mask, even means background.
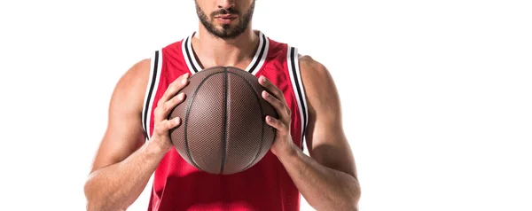
[[[301,70],[299,66],[299,56],[297,48],[288,46],[288,51],[286,53],[286,63],[288,66],[288,73],[290,74],[290,80],[292,81],[293,91],[301,116],[301,147],[303,148],[303,151],[305,151],[307,140],[305,137],[305,131],[307,129],[309,112],[307,107],[307,98],[305,97],[305,90],[301,80]]]

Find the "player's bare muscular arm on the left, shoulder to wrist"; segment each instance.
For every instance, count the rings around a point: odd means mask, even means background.
[[[145,142],[141,123],[149,72],[149,59],[138,62],[113,91],[106,133],[84,188],[88,210],[125,210],[165,154],[155,142]]]

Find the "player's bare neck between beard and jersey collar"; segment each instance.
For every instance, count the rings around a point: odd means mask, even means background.
[[[192,49],[203,68],[236,66],[245,69],[253,60],[258,44],[258,35],[251,26],[235,38],[222,39],[208,33],[200,23],[198,33],[192,38]]]

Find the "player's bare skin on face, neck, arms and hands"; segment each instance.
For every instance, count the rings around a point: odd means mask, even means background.
[[[253,0],[197,0],[196,4],[208,14],[207,20],[215,30],[223,33],[223,30],[239,27]],[[238,15],[229,25],[223,24],[210,15],[221,10],[237,11]],[[192,47],[201,65],[204,68],[237,66],[244,69],[258,47],[258,37],[251,28],[249,21],[238,35],[220,38],[200,22]],[[310,156],[293,145],[289,135],[292,111],[287,108],[286,99],[276,86],[261,77],[259,82],[268,90],[262,93],[262,98],[279,113],[278,119],[265,119],[277,129],[270,150],[310,206],[317,210],[357,210],[360,186],[355,160],[341,125],[338,91],[329,71],[316,60],[302,56],[300,66],[309,106],[306,139]],[[122,75],[113,90],[106,133],[84,186],[88,210],[126,210],[145,189],[160,160],[173,147],[168,130],[179,127],[181,119],[168,120],[166,117],[186,98],[179,91],[188,84],[189,75],[184,74],[172,82],[157,102],[153,136],[151,141],[145,142],[141,113],[149,72],[150,59],[143,59]]]

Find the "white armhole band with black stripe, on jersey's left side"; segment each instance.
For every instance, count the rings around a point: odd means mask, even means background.
[[[146,139],[150,140],[150,122],[152,121],[152,108],[153,108],[153,101],[155,98],[155,94],[157,93],[157,90],[159,89],[159,81],[160,81],[160,70],[162,66],[162,50],[155,51],[153,60],[157,60],[156,62],[153,61],[153,65],[150,67],[150,82],[148,84],[148,87],[146,90],[147,93],[147,109],[146,107],[143,108],[143,117],[145,117],[145,121],[143,124],[145,125],[145,133],[146,133]],[[153,82],[153,76],[155,77],[155,81]],[[150,98],[151,97],[151,98]]]

